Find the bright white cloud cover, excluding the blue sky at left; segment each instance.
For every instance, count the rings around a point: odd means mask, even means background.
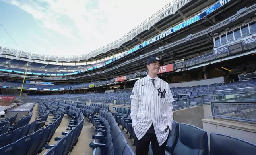
[[[153,0],[4,0],[4,2],[32,15],[38,25],[44,29],[45,34],[48,34],[44,37],[61,40],[58,43],[52,42],[48,50],[56,51],[62,46],[64,51],[60,53],[75,55],[88,53],[118,40],[163,8],[169,0],[161,0],[157,3]],[[42,40],[47,39],[42,38]],[[70,49],[76,52],[70,52]],[[52,51],[48,52],[52,53]]]

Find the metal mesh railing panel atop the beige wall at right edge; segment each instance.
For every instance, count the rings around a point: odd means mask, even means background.
[[[256,93],[211,102],[213,117],[256,123]]]

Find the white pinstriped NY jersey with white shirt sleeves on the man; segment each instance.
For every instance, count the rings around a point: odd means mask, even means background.
[[[167,140],[173,123],[173,95],[169,84],[155,77],[155,87],[152,78],[147,75],[135,82],[131,102],[131,119],[134,133],[140,140],[150,126],[154,125],[155,134],[161,146]]]

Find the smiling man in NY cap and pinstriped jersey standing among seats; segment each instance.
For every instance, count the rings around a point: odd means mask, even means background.
[[[136,155],[147,155],[150,142],[153,155],[165,155],[174,99],[168,83],[157,77],[163,64],[158,57],[147,60],[148,75],[135,82],[130,96]]]

